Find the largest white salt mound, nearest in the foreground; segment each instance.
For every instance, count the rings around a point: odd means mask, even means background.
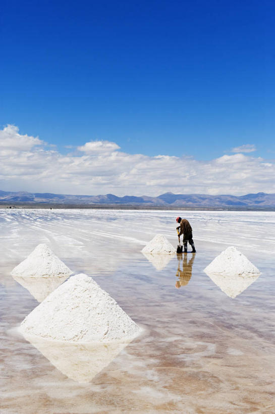
[[[96,282],[77,274],[54,290],[22,322],[23,333],[59,341],[133,339],[140,328]]]

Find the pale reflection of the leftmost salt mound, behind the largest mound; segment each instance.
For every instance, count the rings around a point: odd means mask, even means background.
[[[22,277],[13,275],[13,279],[23,286],[23,288],[26,288],[38,302],[42,302],[68,278],[68,274],[63,275],[62,277],[48,276],[46,278],[31,278],[27,276]]]

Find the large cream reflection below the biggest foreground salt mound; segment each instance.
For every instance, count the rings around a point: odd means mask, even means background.
[[[131,342],[70,343],[49,341],[24,334],[24,338],[66,377],[90,382]]]

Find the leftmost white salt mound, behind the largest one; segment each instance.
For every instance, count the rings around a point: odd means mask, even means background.
[[[13,277],[47,278],[69,277],[72,270],[61,261],[46,244],[39,244],[29,256],[13,270]]]

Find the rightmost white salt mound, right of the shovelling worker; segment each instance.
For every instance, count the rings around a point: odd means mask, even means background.
[[[219,273],[228,276],[260,274],[259,269],[251,263],[244,254],[230,246],[219,254],[204,269],[205,273]]]

